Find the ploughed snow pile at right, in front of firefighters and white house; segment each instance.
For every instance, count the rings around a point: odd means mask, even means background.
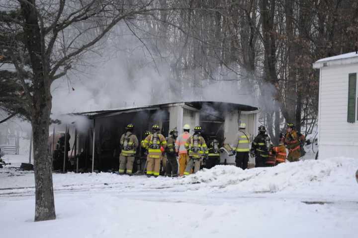
[[[356,185],[358,160],[333,158],[280,164],[271,168],[243,171],[234,166],[216,166],[174,183],[204,183],[207,187],[246,192],[277,192],[309,186]],[[168,184],[169,185],[169,184]]]

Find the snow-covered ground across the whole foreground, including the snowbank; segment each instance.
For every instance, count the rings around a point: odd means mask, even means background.
[[[57,219],[33,222],[34,178],[0,170],[0,234],[10,237],[337,238],[358,234],[358,158],[186,178],[54,174]],[[24,156],[6,156],[19,165]],[[11,166],[12,166],[11,165]]]

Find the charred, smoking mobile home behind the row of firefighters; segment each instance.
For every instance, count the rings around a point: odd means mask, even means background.
[[[201,125],[206,140],[216,137],[221,144],[231,144],[241,122],[247,124],[247,131],[251,135],[257,134],[258,112],[257,107],[248,105],[200,101],[77,113],[75,115],[85,116],[91,120],[88,130],[76,131],[78,168],[83,172],[117,171],[119,139],[128,123],[134,124],[134,133],[139,140],[143,139],[144,132],[150,130],[153,124],[159,124],[165,136],[169,135],[172,128],[177,127],[181,132],[182,126],[189,124],[190,128]],[[74,131],[75,129],[72,129],[72,134]],[[72,143],[74,141],[72,139]],[[139,148],[134,171],[142,169],[144,160]]]

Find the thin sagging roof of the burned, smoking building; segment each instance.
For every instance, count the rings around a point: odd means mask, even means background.
[[[190,107],[199,110],[204,105],[208,105],[216,108],[230,108],[230,109],[236,109],[246,112],[256,111],[259,109],[257,107],[250,106],[250,105],[243,105],[243,104],[229,103],[229,102],[194,101],[194,102],[178,102],[178,103],[156,104],[156,105],[146,105],[146,106],[124,107],[124,108],[116,108],[116,109],[108,109],[108,110],[73,113],[72,115],[82,115],[89,118],[97,118],[97,117],[113,116],[121,113],[132,113],[132,112],[139,112],[145,110],[159,110],[162,108],[168,108],[174,106],[185,106],[185,107]]]

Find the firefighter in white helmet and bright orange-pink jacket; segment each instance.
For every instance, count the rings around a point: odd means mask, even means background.
[[[176,141],[176,151],[179,154],[179,176],[183,176],[187,163],[189,162],[189,156],[185,149],[185,143],[190,137],[190,126],[185,124],[183,126],[183,133],[179,135]]]

